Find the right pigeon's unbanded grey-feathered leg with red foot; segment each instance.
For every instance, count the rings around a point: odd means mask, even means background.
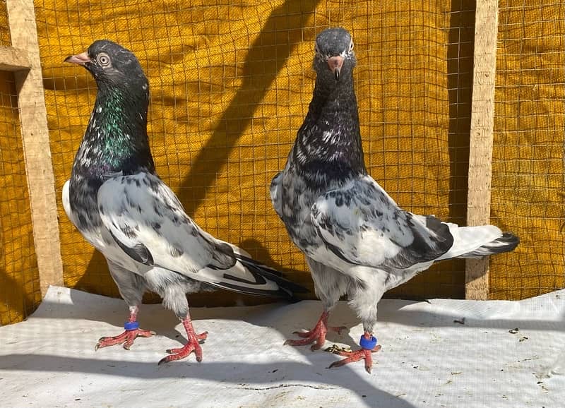
[[[302,340],[287,340],[284,344],[291,346],[304,346],[312,344],[310,349],[320,349],[326,342],[326,334],[329,330],[340,333],[341,330],[347,330],[345,326],[333,327],[328,326],[328,317],[330,316],[331,309],[335,303],[340,299],[340,294],[345,293],[347,288],[347,277],[337,270],[328,268],[322,263],[316,262],[311,258],[306,258],[310,267],[312,279],[314,280],[314,288],[316,289],[316,296],[322,301],[323,312],[318,320],[318,323],[312,330],[307,332],[294,332],[299,337],[304,337]]]

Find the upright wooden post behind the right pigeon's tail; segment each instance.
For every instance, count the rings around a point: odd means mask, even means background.
[[[467,199],[468,225],[490,224],[498,16],[497,0],[477,1]],[[466,261],[465,297],[467,299],[488,299],[488,257]]]

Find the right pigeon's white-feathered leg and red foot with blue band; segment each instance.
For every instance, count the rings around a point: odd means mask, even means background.
[[[335,361],[328,368],[340,367],[364,359],[365,370],[371,373],[373,365],[371,354],[381,349],[381,346],[376,344],[376,337],[373,336],[373,328],[376,324],[376,305],[381,300],[385,288],[384,274],[379,272],[377,270],[360,271],[359,276],[362,276],[364,280],[353,282],[347,290],[349,304],[355,309],[363,323],[364,333],[359,340],[361,349],[352,352],[335,352],[335,354],[345,356],[345,359]]]

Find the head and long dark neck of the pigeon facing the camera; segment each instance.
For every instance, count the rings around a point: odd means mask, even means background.
[[[328,28],[316,37],[316,84],[308,114],[292,150],[292,164],[310,188],[330,188],[354,175],[367,174],[353,87],[357,64],[353,40],[345,28]],[[290,159],[289,159],[290,160]]]

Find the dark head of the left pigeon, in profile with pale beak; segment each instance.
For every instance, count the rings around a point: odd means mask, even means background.
[[[148,80],[133,52],[109,40],[97,40],[82,54],[66,57],[65,62],[84,66],[104,85],[124,88],[139,87],[148,92]]]

